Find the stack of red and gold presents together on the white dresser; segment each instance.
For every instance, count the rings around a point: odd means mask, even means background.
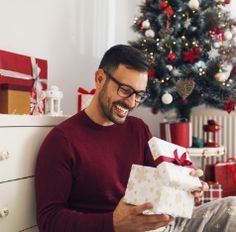
[[[0,50],[0,113],[43,113],[47,61]]]

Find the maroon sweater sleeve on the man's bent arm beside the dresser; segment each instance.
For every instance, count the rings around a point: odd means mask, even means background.
[[[113,232],[113,213],[82,213],[68,206],[73,149],[53,129],[42,144],[35,174],[37,223],[41,232]]]

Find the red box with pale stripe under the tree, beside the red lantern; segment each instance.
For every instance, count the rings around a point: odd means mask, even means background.
[[[160,123],[160,138],[181,147],[191,147],[192,125],[190,122]]]

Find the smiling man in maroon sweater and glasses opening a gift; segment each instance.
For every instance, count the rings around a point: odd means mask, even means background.
[[[147,72],[140,51],[127,45],[110,48],[95,73],[96,93],[89,107],[45,139],[36,165],[41,232],[144,232],[173,220],[144,215],[152,208],[148,202],[131,206],[122,200],[131,165],[154,165],[148,127],[128,116],[147,97]],[[199,201],[202,189],[193,194]],[[176,220],[167,229],[180,228],[180,222],[188,226],[186,220]]]

